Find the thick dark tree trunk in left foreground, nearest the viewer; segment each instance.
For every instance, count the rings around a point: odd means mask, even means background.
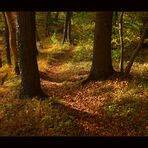
[[[41,89],[37,65],[34,20],[34,12],[17,12],[18,49],[21,71],[20,98],[45,96]]]

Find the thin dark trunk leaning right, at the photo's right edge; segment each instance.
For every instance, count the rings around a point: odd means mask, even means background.
[[[138,55],[138,53],[139,53],[139,51],[140,51],[140,49],[142,47],[142,44],[143,44],[145,36],[146,36],[145,34],[147,33],[147,27],[148,27],[148,22],[145,24],[145,27],[144,27],[144,30],[143,30],[143,33],[142,33],[142,36],[141,36],[141,39],[139,41],[139,44],[138,44],[137,48],[133,52],[133,54],[132,54],[132,56],[131,56],[131,58],[129,60],[129,63],[128,63],[127,67],[125,68],[125,74],[126,75],[128,75],[130,73],[133,62],[134,62],[136,56]]]

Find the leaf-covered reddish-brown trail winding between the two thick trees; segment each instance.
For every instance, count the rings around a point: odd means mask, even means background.
[[[129,123],[126,116],[108,114],[105,107],[114,100],[114,93],[118,89],[128,87],[127,82],[107,80],[90,82],[85,86],[80,85],[81,79],[86,78],[89,72],[83,70],[77,74],[60,72],[62,64],[71,59],[72,50],[54,55],[56,60],[45,72],[40,73],[43,90],[55,98],[54,107],[57,107],[60,112],[67,112],[68,118],[72,118],[69,120],[72,120],[73,126],[66,127],[64,135],[139,135],[133,128],[134,120]],[[117,83],[119,88],[117,88]],[[122,101],[126,102],[124,99]]]

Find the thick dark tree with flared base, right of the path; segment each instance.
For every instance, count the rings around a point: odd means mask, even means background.
[[[115,73],[111,59],[113,12],[97,12],[93,60],[88,80],[107,79]]]

